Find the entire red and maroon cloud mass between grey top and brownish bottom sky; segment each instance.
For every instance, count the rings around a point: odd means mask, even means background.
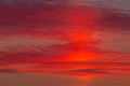
[[[86,75],[129,71],[130,54],[122,52],[122,39],[129,47],[128,13],[76,4],[31,8],[6,4],[0,5],[0,11],[1,72]],[[117,37],[123,43],[121,47]]]

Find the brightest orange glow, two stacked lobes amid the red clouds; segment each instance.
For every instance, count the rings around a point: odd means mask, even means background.
[[[100,57],[100,54],[93,53],[91,51],[92,48],[88,47],[88,44],[93,42],[93,38],[89,31],[80,28],[74,28],[68,35],[72,45],[76,48],[67,51],[67,59],[69,61],[89,61]]]

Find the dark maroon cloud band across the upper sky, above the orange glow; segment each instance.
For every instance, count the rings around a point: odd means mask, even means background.
[[[121,13],[117,9],[101,9],[87,5],[0,6],[0,33],[54,33],[55,31],[61,32],[63,30],[62,26],[91,26],[92,28],[99,27],[98,30],[112,29],[114,31],[128,31],[130,27],[129,14]],[[55,31],[53,31],[53,27],[55,27]],[[16,29],[12,31],[13,28]]]

